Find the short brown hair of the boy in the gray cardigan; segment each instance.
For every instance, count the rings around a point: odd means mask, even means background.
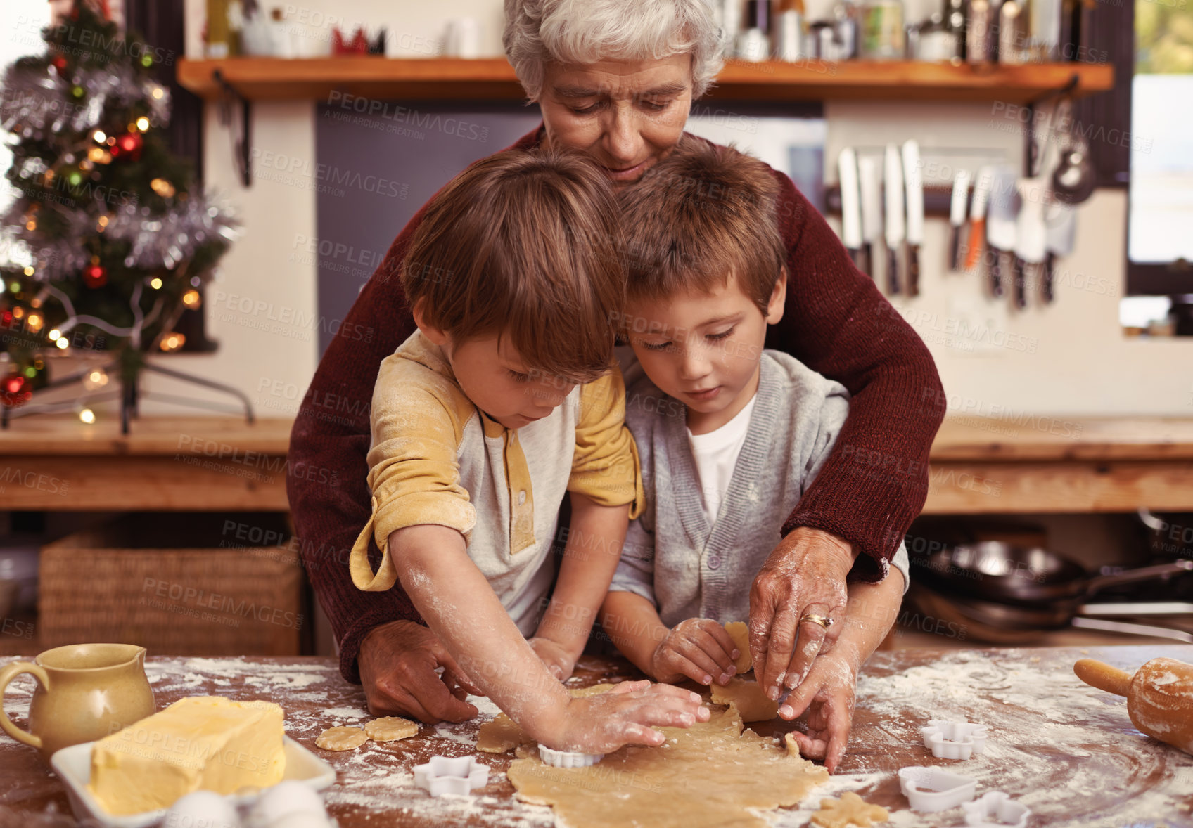
[[[684,136],[618,195],[626,297],[710,292],[736,278],[766,315],[787,253],[775,217],[779,185],[758,158]]]

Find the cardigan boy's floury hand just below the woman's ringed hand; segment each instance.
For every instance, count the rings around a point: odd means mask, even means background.
[[[779,708],[779,716],[789,721],[808,710],[808,733],[793,730],[791,736],[804,759],[823,759],[829,773],[836,772],[849,743],[858,684],[858,668],[841,649],[817,656],[808,677]]]

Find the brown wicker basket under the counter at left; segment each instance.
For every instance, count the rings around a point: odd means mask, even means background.
[[[68,535],[42,548],[42,645],[297,655],[308,618],[297,553],[278,546],[289,537],[276,513],[126,515]]]

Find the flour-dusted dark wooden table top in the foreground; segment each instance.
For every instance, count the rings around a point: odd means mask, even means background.
[[[855,791],[891,810],[888,824],[959,826],[959,808],[910,811],[898,790],[898,768],[940,765],[975,777],[979,796],[1002,790],[1026,804],[1033,828],[1193,826],[1193,757],[1137,731],[1127,718],[1126,699],[1089,687],[1073,673],[1080,658],[1133,670],[1160,655],[1193,661],[1193,646],[876,653],[858,684],[849,752],[839,772],[803,807],[777,811],[775,824],[804,826],[822,796]],[[369,720],[360,687],[345,683],[332,659],[150,658],[147,672],[159,709],[204,693],[282,704],[288,734],[338,771],[324,798],[340,828],[552,824],[549,809],[514,798],[505,774],[512,753],[475,753],[478,724],[496,712],[488,699],[474,699],[482,714],[471,722],[422,727],[413,739],[330,753],[314,745],[324,728]],[[573,681],[631,677],[632,668],[623,661],[586,656]],[[19,724],[31,689],[29,677],[10,687],[5,709]],[[962,762],[934,759],[919,735],[920,726],[934,717],[987,724],[985,752]],[[752,727],[777,734],[798,723]],[[478,755],[493,768],[488,786],[471,797],[428,797],[414,787],[410,768],[434,754]],[[32,748],[0,735],[0,767],[6,778],[0,785],[0,823],[29,826],[30,815],[48,809],[69,813],[61,783]],[[5,810],[8,821],[2,818]]]

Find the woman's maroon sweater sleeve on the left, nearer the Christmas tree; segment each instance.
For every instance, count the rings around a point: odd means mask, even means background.
[[[514,147],[533,148],[540,129]],[[357,654],[369,630],[400,620],[426,623],[401,584],[361,592],[348,571],[350,552],[371,513],[366,455],[373,380],[382,360],[415,330],[397,275],[425,210],[426,205],[397,235],[352,304],[319,362],[290,431],[286,493],[299,554],[339,642],[340,673],[358,684]],[[320,483],[321,475],[293,473],[310,468],[328,469],[327,478],[338,479],[339,485]],[[382,562],[373,541],[369,562],[375,571]]]

